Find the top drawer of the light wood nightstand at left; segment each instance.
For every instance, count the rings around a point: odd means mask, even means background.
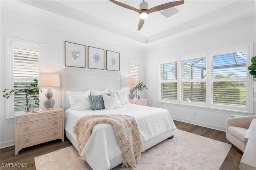
[[[62,117],[62,112],[60,111],[60,112],[56,112],[56,113],[49,113],[49,114],[43,114],[43,115],[18,117],[17,124],[26,123],[26,122],[30,122],[30,121],[43,120],[43,119],[50,119],[50,118],[54,118],[54,117]]]

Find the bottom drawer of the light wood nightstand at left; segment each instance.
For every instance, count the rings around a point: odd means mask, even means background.
[[[44,133],[39,133],[37,135],[31,135],[26,137],[18,137],[17,145],[18,147],[28,147],[36,145],[39,143],[52,141],[54,139],[59,139],[62,137],[62,128],[50,130]]]

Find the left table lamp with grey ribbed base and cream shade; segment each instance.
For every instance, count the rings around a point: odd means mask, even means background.
[[[48,86],[45,93],[46,100],[44,100],[44,107],[46,110],[51,110],[55,104],[55,100],[52,99],[53,93],[50,86],[60,86],[60,78],[58,74],[39,74],[38,86]]]

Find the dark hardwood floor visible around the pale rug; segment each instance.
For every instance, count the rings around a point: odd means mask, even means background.
[[[187,131],[190,133],[194,133],[197,135],[201,135],[204,137],[208,137],[211,139],[215,139],[217,141],[229,143],[228,140],[226,139],[226,133],[206,127],[201,127],[197,125],[192,125],[189,123],[184,123],[180,121],[174,121],[177,129]],[[17,156],[14,156],[14,146],[12,147],[7,147],[3,148],[0,150],[0,162],[1,170],[35,170],[35,162],[34,162],[34,157],[40,156],[55,150],[59,150],[68,146],[71,146],[72,144],[68,139],[65,138],[64,142],[61,142],[61,140],[55,140],[47,143],[43,143],[40,145],[36,145],[33,147],[28,147],[25,149],[22,149],[19,151]],[[242,158],[242,154],[240,154],[237,150],[236,147],[232,146],[230,149],[226,159],[224,160],[220,170],[239,170],[239,164],[240,160]],[[15,166],[15,163],[23,163],[24,166],[27,167],[2,167],[3,163],[12,163],[13,166]],[[26,164],[25,164],[26,163]]]

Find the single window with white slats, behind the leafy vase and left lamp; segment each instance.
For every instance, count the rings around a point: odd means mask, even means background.
[[[15,39],[6,39],[6,45],[6,88],[25,88],[34,78],[38,78],[42,45]],[[7,118],[14,117],[16,111],[24,109],[24,98],[25,95],[18,92],[6,100]],[[32,108],[35,107],[38,106],[34,104],[32,98]]]

